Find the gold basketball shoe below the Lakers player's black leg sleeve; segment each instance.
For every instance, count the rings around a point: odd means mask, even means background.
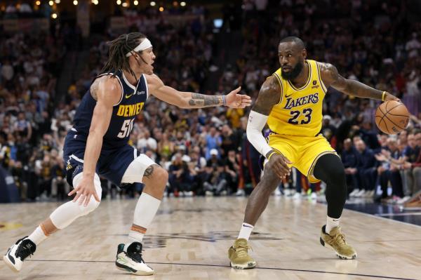
[[[340,232],[340,227],[333,227],[329,234],[326,233],[326,225],[321,227],[320,244],[326,248],[332,248],[342,260],[354,260],[356,251],[345,241],[345,235]]]

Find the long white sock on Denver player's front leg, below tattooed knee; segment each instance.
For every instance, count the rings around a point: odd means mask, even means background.
[[[124,251],[133,242],[142,242],[143,236],[145,236],[147,227],[155,217],[156,211],[158,211],[161,201],[154,198],[145,192],[140,194],[138,204],[136,204],[135,215],[133,218],[133,225],[130,233],[128,234],[128,243],[124,245]]]

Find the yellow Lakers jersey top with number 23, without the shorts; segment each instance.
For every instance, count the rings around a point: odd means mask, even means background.
[[[326,87],[321,81],[319,64],[315,60],[305,60],[305,63],[309,66],[309,76],[301,88],[283,79],[281,68],[273,74],[281,86],[281,99],[267,119],[274,133],[312,137],[321,130]]]

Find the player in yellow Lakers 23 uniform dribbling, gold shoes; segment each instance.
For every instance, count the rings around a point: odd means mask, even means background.
[[[347,196],[344,166],[319,133],[323,98],[327,88],[332,86],[359,98],[399,99],[359,81],[345,79],[333,65],[307,60],[305,46],[297,37],[283,39],[278,53],[281,68],[263,83],[248,117],[247,137],[265,156],[265,173],[248,199],[239,238],[229,248],[231,266],[240,269],[255,267],[255,260],[248,255],[248,238],[265,210],[270,194],[281,178],[290,174],[290,166],[307,175],[310,182],[326,182],[328,217],[326,225],[321,228],[320,242],[333,248],[339,258],[354,259],[356,251],[347,244],[339,227]],[[262,135],[265,124],[271,131],[269,142]]]

